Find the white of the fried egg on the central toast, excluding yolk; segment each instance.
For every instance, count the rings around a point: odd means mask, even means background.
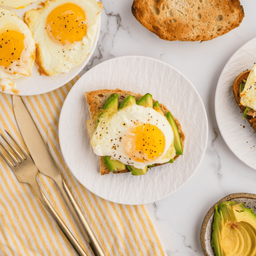
[[[124,138],[130,128],[146,123],[155,125],[162,131],[165,138],[164,151],[161,156],[153,160],[149,159],[145,162],[131,160],[129,159],[131,156],[126,153],[125,147],[127,145],[124,145],[120,138]],[[113,115],[103,115],[92,136],[91,145],[96,155],[111,156],[111,159],[143,169],[147,165],[166,163],[172,159],[175,156],[173,140],[172,128],[164,116],[152,107],[132,104],[118,110]],[[112,148],[114,144],[115,149]]]

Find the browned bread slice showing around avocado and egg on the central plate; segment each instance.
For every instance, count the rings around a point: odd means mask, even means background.
[[[130,100],[130,98],[134,98],[135,102],[137,101],[137,104],[143,104],[143,102],[140,102],[140,101],[142,101],[145,98],[144,96],[142,97],[141,94],[135,94],[135,93],[123,91],[120,89],[98,90],[98,91],[87,92],[86,98],[87,98],[87,103],[89,105],[90,114],[92,117],[91,120],[87,121],[87,129],[88,129],[90,138],[92,138],[92,135],[95,132],[95,128],[98,124],[98,116],[102,113],[102,107],[104,108],[104,106],[107,105],[107,101],[110,100],[109,99],[110,95],[113,95],[113,94],[118,94],[118,97],[117,97],[118,104],[116,101],[115,104],[117,104],[117,105],[115,106],[115,108],[117,108],[118,106],[119,106],[119,108],[120,107],[122,108],[123,105],[126,104],[127,101]],[[125,99],[125,101],[124,101],[124,99]],[[154,103],[154,107],[157,107],[156,104],[158,104],[158,102],[156,102],[152,98],[151,98],[151,101],[152,101],[152,103]],[[128,102],[128,104],[129,104],[129,102]],[[146,104],[148,104],[148,103],[146,103]],[[153,107],[153,104],[151,107]],[[163,114],[166,114],[168,112],[168,109],[164,105],[159,104],[159,107],[160,107],[161,111],[163,112]],[[173,120],[175,121],[175,124],[177,125],[177,128],[178,128],[177,131],[179,133],[178,136],[180,137],[180,142],[181,142],[182,149],[183,149],[184,140],[185,140],[184,132],[182,131],[181,125],[178,122],[178,120],[175,119],[174,117],[173,117]],[[178,155],[174,156],[173,160],[177,159],[177,157],[178,157]],[[107,174],[110,172],[109,168],[104,163],[104,158],[105,158],[105,163],[106,163],[106,157],[102,157],[102,156],[100,157],[101,175]],[[161,164],[155,164],[154,166],[159,166],[159,165],[161,165]],[[153,166],[150,166],[150,168],[151,167],[153,167]],[[131,171],[131,170],[130,170],[129,166],[126,165],[126,167],[122,168],[122,170],[116,170],[113,172],[114,173],[123,173],[123,172],[129,172],[129,171]],[[145,170],[145,172],[146,172],[146,170]],[[133,174],[133,172],[132,172],[132,174]],[[145,174],[145,173],[137,173],[137,174],[133,174],[133,175],[140,175],[140,174]]]

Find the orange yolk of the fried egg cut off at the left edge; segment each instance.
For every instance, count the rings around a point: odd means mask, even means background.
[[[7,30],[0,35],[0,65],[7,68],[21,58],[25,36],[18,31]]]

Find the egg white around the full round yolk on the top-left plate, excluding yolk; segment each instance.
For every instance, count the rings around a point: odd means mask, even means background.
[[[45,27],[47,17],[51,11],[65,3],[76,4],[85,11],[87,34],[82,41],[63,45],[52,40]],[[42,67],[42,69],[39,68],[39,72],[46,75],[68,72],[81,64],[92,49],[97,34],[102,4],[95,0],[48,0],[42,5],[42,8],[30,10],[24,16],[24,21],[34,35],[37,47],[36,62]]]

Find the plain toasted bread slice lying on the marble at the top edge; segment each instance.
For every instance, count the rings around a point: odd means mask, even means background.
[[[207,41],[239,26],[239,0],[134,0],[136,20],[161,39]]]

